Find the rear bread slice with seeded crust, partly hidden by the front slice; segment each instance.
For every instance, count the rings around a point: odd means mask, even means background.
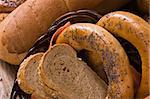
[[[28,94],[38,96],[39,99],[65,99],[62,94],[52,88],[48,88],[40,81],[38,66],[42,56],[43,53],[37,53],[29,56],[22,62],[17,73],[20,88]]]

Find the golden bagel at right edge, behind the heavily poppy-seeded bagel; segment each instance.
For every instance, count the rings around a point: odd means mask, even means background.
[[[102,17],[97,25],[113,35],[126,39],[138,50],[142,61],[142,78],[137,98],[150,94],[150,25],[142,18],[124,11],[116,11]]]

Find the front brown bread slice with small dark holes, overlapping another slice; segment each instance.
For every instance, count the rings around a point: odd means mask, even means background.
[[[39,65],[41,80],[70,99],[104,99],[107,85],[76,54],[67,44],[52,46]]]

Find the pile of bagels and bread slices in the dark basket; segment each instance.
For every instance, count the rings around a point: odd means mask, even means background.
[[[131,20],[135,26],[132,26]],[[53,35],[50,42],[54,42],[54,45],[50,43],[48,51],[24,60],[17,75],[19,86],[26,93],[42,99],[146,97],[149,95],[146,59],[149,27],[140,17],[123,11],[103,16],[97,25],[67,23]],[[141,30],[143,36],[136,34]],[[142,71],[145,71],[142,72],[141,81],[140,74],[131,67],[130,56],[112,35],[115,33],[130,41],[139,51],[143,60]],[[86,52],[87,63],[77,57],[82,50]]]

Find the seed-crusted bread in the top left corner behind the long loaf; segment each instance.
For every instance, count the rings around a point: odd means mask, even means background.
[[[0,0],[0,12],[11,12],[26,0]]]

